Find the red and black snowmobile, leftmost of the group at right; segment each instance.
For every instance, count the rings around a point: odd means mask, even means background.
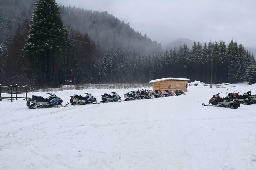
[[[232,99],[231,97],[220,97],[220,93],[213,95],[213,97],[209,100],[208,105],[204,106],[222,106],[222,107],[230,107],[231,109],[237,109],[240,107],[240,102],[237,101],[237,98]]]

